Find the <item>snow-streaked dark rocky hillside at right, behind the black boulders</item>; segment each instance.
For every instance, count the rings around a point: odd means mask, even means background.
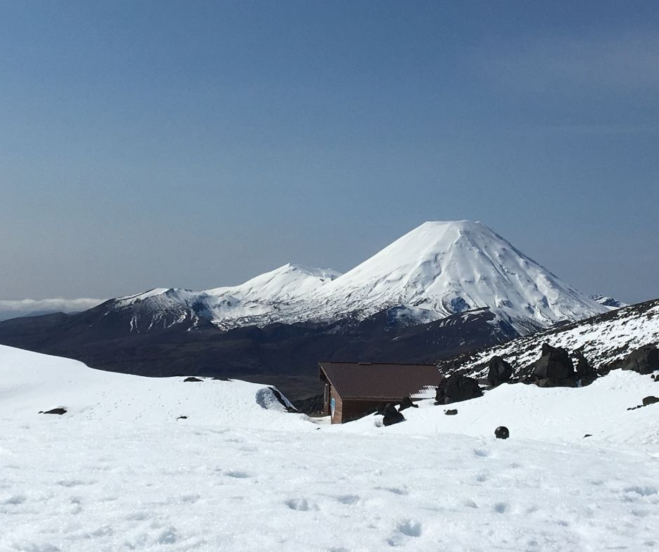
[[[487,371],[485,363],[496,354],[508,360],[517,371],[524,371],[540,357],[543,343],[565,347],[570,352],[581,349],[595,368],[609,366],[641,345],[659,344],[659,299],[471,352],[451,359],[444,369],[482,377]]]

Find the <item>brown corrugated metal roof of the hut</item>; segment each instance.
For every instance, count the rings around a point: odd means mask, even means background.
[[[342,399],[400,401],[442,380],[435,364],[319,362],[318,367]]]

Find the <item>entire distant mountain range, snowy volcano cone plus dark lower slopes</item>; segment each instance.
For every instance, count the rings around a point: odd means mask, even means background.
[[[294,397],[317,391],[320,359],[432,362],[607,310],[482,223],[429,222],[344,275],[287,264],[233,287],[152,289],[0,322],[0,343],[125,373],[274,381]]]

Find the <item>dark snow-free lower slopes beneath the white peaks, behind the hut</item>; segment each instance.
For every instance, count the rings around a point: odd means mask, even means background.
[[[0,343],[77,359],[108,371],[267,383],[289,399],[301,399],[321,390],[320,359],[427,363],[505,343],[518,335],[487,308],[417,326],[395,324],[389,311],[331,324],[272,324],[220,331],[208,322],[130,333],[126,315],[103,304],[74,315],[0,322]]]

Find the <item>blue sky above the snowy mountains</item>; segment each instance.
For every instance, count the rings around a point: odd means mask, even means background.
[[[348,270],[480,220],[659,296],[659,4],[5,1],[0,298]]]

